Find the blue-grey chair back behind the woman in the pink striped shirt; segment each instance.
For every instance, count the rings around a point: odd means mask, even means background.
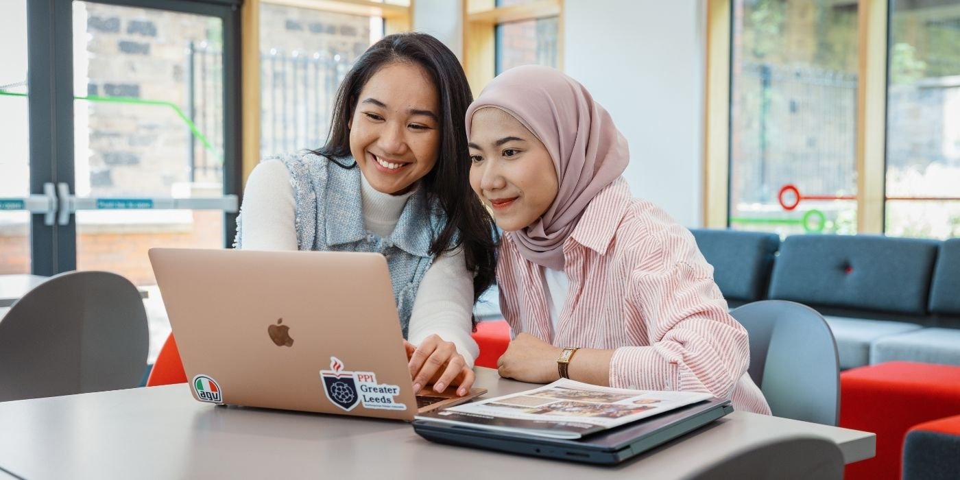
[[[836,425],[840,362],[833,334],[816,310],[760,300],[730,312],[750,334],[750,377],[777,417]]]

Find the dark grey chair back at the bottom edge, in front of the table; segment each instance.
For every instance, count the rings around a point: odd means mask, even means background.
[[[828,439],[796,436],[750,445],[686,480],[841,480],[843,452]]]

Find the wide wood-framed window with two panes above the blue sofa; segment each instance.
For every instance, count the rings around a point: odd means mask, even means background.
[[[708,38],[707,227],[960,236],[960,0],[710,0]]]

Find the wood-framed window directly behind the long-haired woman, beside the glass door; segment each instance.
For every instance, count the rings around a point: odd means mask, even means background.
[[[383,36],[410,30],[409,0],[249,0],[243,179],[264,156],[321,147],[337,89]]]

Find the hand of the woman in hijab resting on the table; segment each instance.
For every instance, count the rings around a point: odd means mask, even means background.
[[[520,333],[497,360],[497,372],[521,382],[549,383],[560,378],[557,358],[563,350],[529,333]]]

